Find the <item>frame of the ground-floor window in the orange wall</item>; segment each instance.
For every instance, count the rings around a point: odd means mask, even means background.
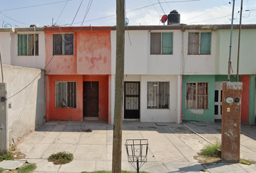
[[[58,102],[58,89],[57,89],[57,84],[59,83],[65,83],[65,99],[63,100],[64,102],[60,101]],[[70,106],[71,103],[70,103],[70,100],[68,97],[68,83],[73,83],[75,85],[73,85],[73,89],[75,87],[75,91],[72,92],[73,94],[73,102],[72,102],[72,107]],[[75,95],[75,96],[74,96]],[[74,98],[75,97],[75,98]],[[61,105],[62,103],[62,106],[59,107],[59,105]],[[77,81],[55,81],[55,107],[56,108],[77,108]]]

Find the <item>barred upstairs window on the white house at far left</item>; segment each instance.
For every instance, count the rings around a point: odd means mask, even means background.
[[[18,56],[38,56],[38,34],[18,35]]]

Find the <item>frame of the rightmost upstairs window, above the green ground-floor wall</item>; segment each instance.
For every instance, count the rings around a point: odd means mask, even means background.
[[[190,34],[195,34],[198,33],[198,42],[192,42],[189,43],[189,35]],[[201,34],[202,33],[210,33],[210,53],[200,53],[200,46],[201,46]],[[188,44],[187,44],[187,55],[211,55],[212,50],[211,50],[211,45],[212,45],[212,32],[189,32],[188,35]],[[189,45],[197,45],[197,53],[189,53]]]

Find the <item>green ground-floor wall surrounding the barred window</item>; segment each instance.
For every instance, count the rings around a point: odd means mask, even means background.
[[[208,110],[187,110],[186,107],[186,82],[208,82]],[[215,75],[184,75],[182,77],[182,115],[183,121],[214,122],[214,92]]]

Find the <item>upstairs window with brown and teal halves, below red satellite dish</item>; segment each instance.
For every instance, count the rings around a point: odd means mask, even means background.
[[[173,32],[151,32],[150,54],[172,55],[173,54]]]

